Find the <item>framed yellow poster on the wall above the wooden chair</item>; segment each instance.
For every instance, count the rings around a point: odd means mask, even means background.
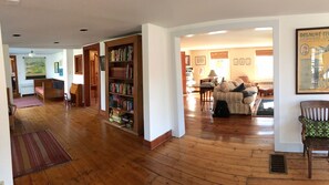
[[[296,30],[296,94],[329,94],[329,28]]]

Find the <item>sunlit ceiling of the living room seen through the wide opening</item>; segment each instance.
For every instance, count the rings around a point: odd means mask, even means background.
[[[222,30],[218,30],[222,31]],[[273,31],[254,29],[225,30],[220,34],[196,34],[181,38],[181,50],[273,47]]]

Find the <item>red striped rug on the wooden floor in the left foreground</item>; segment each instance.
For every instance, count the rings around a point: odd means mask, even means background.
[[[11,136],[13,177],[71,161],[49,131]]]

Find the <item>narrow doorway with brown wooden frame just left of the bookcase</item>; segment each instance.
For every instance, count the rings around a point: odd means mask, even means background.
[[[100,44],[83,48],[84,59],[84,105],[100,110]]]

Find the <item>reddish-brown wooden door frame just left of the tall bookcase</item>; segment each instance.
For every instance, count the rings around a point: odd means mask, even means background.
[[[84,93],[84,106],[90,106],[90,102],[91,102],[91,83],[90,83],[90,78],[91,78],[91,68],[90,68],[90,51],[97,51],[99,56],[100,56],[100,43],[95,43],[92,45],[86,45],[83,47],[83,63],[84,63],[84,73],[83,73],[83,80],[84,80],[84,84],[83,84],[83,93]],[[99,60],[100,61],[100,60]],[[101,90],[101,73],[99,73],[99,82],[97,82],[97,90]],[[101,92],[97,91],[97,97],[101,97]],[[97,104],[99,104],[99,110],[101,109],[101,99],[97,99]]]

